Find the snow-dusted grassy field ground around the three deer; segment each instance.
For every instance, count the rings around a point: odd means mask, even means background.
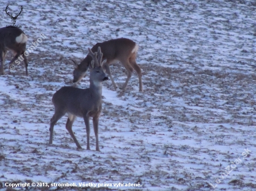
[[[11,19],[5,13],[7,2],[0,2],[3,27]],[[6,182],[112,184],[87,187],[100,191],[256,189],[254,0],[9,0],[8,4],[14,13],[23,6],[16,25],[22,25],[28,46],[40,33],[47,38],[28,57],[28,77],[23,64],[8,70],[10,53],[6,74],[0,76],[0,189],[8,190]],[[92,150],[76,149],[65,128],[67,116],[54,127],[54,144],[48,146],[54,114],[51,98],[62,86],[72,85],[70,59],[79,62],[88,47],[121,37],[140,47],[137,63],[143,92],[138,91],[136,74],[122,96],[110,81],[104,82],[101,152],[95,151],[92,128]],[[111,70],[121,87],[125,69],[115,64]],[[86,76],[79,87],[88,85]],[[73,130],[86,148],[82,118],[77,118]],[[142,186],[116,188],[114,183]],[[28,187],[50,188],[86,187]]]

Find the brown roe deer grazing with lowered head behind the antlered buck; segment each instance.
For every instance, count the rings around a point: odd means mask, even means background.
[[[135,70],[139,76],[139,90],[142,91],[141,68],[136,63],[138,45],[128,38],[117,38],[102,43],[97,43],[93,46],[92,51],[96,52],[99,46],[101,47],[101,51],[103,53],[102,60],[106,61],[103,64],[103,68],[106,70],[108,76],[110,77],[114,88],[116,89],[116,85],[111,75],[109,65],[119,61],[128,71],[128,76],[122,87],[122,90],[126,88],[128,81],[132,76],[132,72],[133,70]],[[80,64],[76,64],[73,61],[75,65],[75,69],[73,72],[74,83],[79,82],[81,78],[85,76],[91,60],[92,58],[87,55],[87,57],[85,57],[85,59]]]

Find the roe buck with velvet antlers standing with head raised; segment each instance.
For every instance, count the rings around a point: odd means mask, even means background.
[[[89,118],[93,117],[94,134],[96,138],[96,151],[100,151],[98,139],[98,124],[101,115],[101,93],[102,82],[108,80],[108,76],[104,73],[101,65],[102,53],[101,48],[93,53],[90,49],[89,55],[93,57],[90,63],[90,87],[88,89],[79,89],[74,87],[62,87],[53,96],[54,116],[50,125],[49,144],[53,143],[53,131],[55,123],[61,119],[63,115],[68,113],[66,129],[73,138],[77,148],[81,148],[72,131],[72,125],[77,116],[83,117],[86,133],[87,133],[87,150],[90,150],[90,124]]]

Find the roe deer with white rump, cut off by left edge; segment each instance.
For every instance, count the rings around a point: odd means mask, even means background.
[[[16,52],[16,55],[10,61],[10,64],[18,58],[24,60],[27,75],[27,57],[24,55],[26,51],[27,36],[19,28],[0,28],[0,74],[4,74],[4,59],[7,50]],[[23,57],[24,55],[24,57]],[[20,63],[20,61],[17,61]],[[16,63],[16,61],[15,61]],[[17,64],[17,63],[16,63]]]

